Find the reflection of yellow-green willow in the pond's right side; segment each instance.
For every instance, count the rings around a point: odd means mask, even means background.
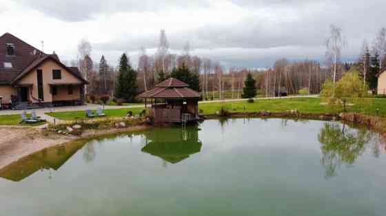
[[[336,176],[336,169],[341,164],[354,164],[373,134],[367,129],[354,130],[346,125],[326,122],[318,134],[318,140],[323,144],[321,163],[325,167],[325,177]]]

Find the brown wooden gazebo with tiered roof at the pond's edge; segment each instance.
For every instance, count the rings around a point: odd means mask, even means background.
[[[154,89],[139,95],[139,98],[145,100],[146,109],[150,102],[155,123],[199,120],[199,92],[176,78],[168,78]]]

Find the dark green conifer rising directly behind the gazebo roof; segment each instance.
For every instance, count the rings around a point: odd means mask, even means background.
[[[176,78],[178,80],[183,81],[191,89],[195,91],[200,91],[200,76],[198,72],[191,72],[188,67],[186,67],[185,63],[181,65],[181,67],[174,68],[171,77]]]

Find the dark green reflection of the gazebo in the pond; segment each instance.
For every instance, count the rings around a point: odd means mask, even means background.
[[[181,162],[201,151],[202,143],[197,127],[150,130],[143,134],[146,137],[146,144],[142,151],[171,164]]]

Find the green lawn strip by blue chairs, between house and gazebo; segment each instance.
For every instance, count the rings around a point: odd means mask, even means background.
[[[128,111],[132,111],[134,115],[140,114],[143,108],[125,108],[125,109],[105,109],[103,111],[106,116],[105,117],[124,117],[128,114]],[[54,118],[58,118],[61,120],[85,120],[90,119],[85,116],[85,111],[63,111],[63,112],[53,112],[53,113],[45,113],[48,116],[52,116]],[[96,118],[104,118],[104,117],[96,117]]]

